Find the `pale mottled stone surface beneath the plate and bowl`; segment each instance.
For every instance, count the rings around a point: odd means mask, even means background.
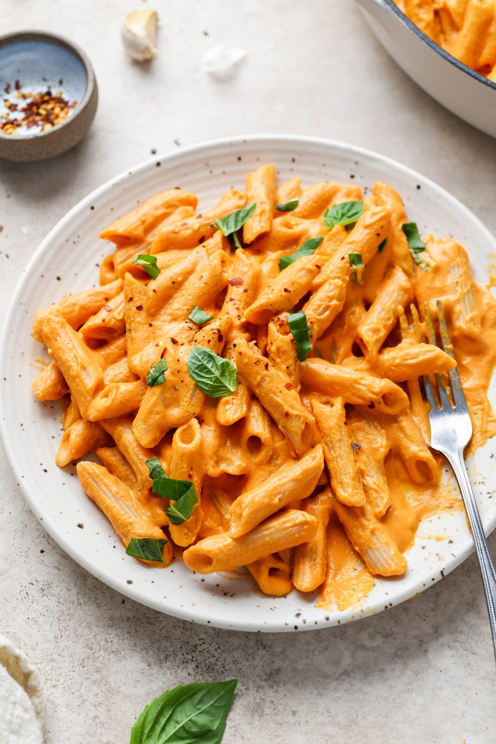
[[[97,117],[75,150],[0,161],[0,307],[34,248],[72,205],[126,167],[207,138],[320,135],[369,147],[448,188],[496,232],[496,141],[445,112],[387,57],[351,0],[158,0],[160,57],[138,67],[123,14],[152,0],[3,0],[4,33],[45,28],[88,53]],[[207,34],[205,33],[207,32]],[[220,42],[248,57],[222,82]],[[76,565],[25,507],[0,462],[0,632],[45,682],[46,744],[125,744],[146,702],[193,680],[239,678],[227,744],[489,744],[495,680],[474,557],[373,618],[294,635],[220,631],[123,600]],[[489,539],[496,554],[496,535]]]

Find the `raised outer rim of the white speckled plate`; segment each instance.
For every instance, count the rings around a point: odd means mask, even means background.
[[[243,145],[246,143],[260,143],[261,147],[267,147],[271,144],[283,142],[283,143],[291,143],[291,144],[301,144],[301,145],[317,145],[321,147],[332,147],[335,150],[341,150],[342,153],[346,153],[350,156],[350,159],[352,155],[358,155],[358,157],[364,157],[364,158],[372,158],[373,160],[382,162],[383,164],[386,164],[387,166],[393,166],[394,169],[402,171],[405,175],[409,176],[413,179],[420,179],[420,182],[424,184],[428,184],[429,186],[434,188],[434,191],[436,191],[439,196],[442,196],[443,199],[446,199],[448,202],[451,202],[451,205],[457,209],[459,209],[462,214],[465,214],[468,219],[471,220],[471,222],[476,222],[477,227],[481,231],[481,234],[486,237],[486,241],[489,243],[489,246],[492,246],[494,249],[493,252],[496,252],[496,237],[489,231],[489,228],[486,228],[486,225],[477,217],[466,205],[463,204],[463,202],[460,202],[459,199],[457,199],[456,196],[451,194],[448,190],[445,190],[444,187],[439,186],[436,182],[429,179],[427,176],[423,176],[421,173],[419,173],[416,170],[413,170],[413,168],[410,168],[408,165],[402,164],[399,161],[394,160],[394,158],[390,158],[388,155],[383,155],[381,153],[377,153],[374,150],[368,150],[364,147],[359,147],[357,145],[353,144],[347,144],[346,142],[322,138],[322,137],[312,137],[309,135],[289,135],[289,134],[257,134],[257,135],[236,135],[234,137],[223,137],[223,138],[216,138],[213,140],[208,140],[204,142],[199,142],[196,144],[192,144],[187,147],[181,147],[181,150],[177,151],[169,151],[168,153],[164,154],[157,154],[154,155],[152,158],[147,158],[146,161],[142,161],[141,163],[135,165],[134,167],[127,168],[123,172],[119,173],[117,176],[112,177],[111,179],[104,182],[102,185],[98,186],[94,190],[91,191],[91,193],[88,193],[87,196],[84,196],[83,199],[80,199],[79,202],[77,202],[68,212],[66,212],[57,222],[56,224],[51,228],[51,230],[48,232],[48,234],[43,238],[41,243],[39,243],[39,246],[36,248],[36,250],[33,252],[33,255],[28,260],[28,263],[26,264],[25,268],[22,270],[22,274],[19,277],[19,280],[16,283],[16,286],[13,290],[13,294],[10,298],[10,301],[7,305],[7,310],[4,315],[4,319],[1,324],[0,329],[0,377],[5,376],[6,372],[6,366],[7,366],[7,354],[2,353],[3,350],[7,347],[7,334],[10,330],[10,324],[12,324],[13,320],[15,319],[16,315],[16,308],[19,305],[19,300],[22,296],[22,291],[25,287],[25,283],[28,282],[30,279],[30,274],[33,270],[33,267],[36,265],[36,263],[39,262],[39,258],[42,257],[45,248],[48,247],[48,245],[51,243],[54,238],[57,237],[57,233],[65,228],[65,225],[71,222],[71,218],[75,214],[79,214],[80,211],[83,211],[87,207],[87,205],[91,205],[95,200],[97,200],[100,196],[103,196],[105,193],[107,193],[109,190],[112,190],[112,187],[114,187],[117,184],[122,184],[122,182],[125,182],[129,179],[133,179],[135,176],[137,176],[140,173],[143,173],[144,170],[148,169],[149,167],[152,167],[154,164],[156,164],[158,161],[160,161],[161,166],[166,166],[167,163],[170,161],[181,161],[181,158],[184,157],[184,155],[190,155],[195,153],[202,153],[202,151],[209,150],[211,148],[215,147],[221,147],[224,150],[228,150],[228,148],[236,147],[236,145]],[[96,209],[95,209],[96,211]],[[486,250],[486,248],[484,248]],[[486,252],[492,252],[490,249]],[[39,515],[39,503],[36,501],[36,498],[34,496],[33,490],[30,490],[28,487],[28,484],[25,481],[25,478],[22,478],[22,471],[18,468],[18,463],[16,461],[16,456],[13,452],[13,445],[10,444],[10,437],[9,437],[9,424],[6,422],[5,416],[4,416],[4,399],[3,397],[0,397],[0,441],[1,445],[4,449],[5,458],[7,460],[7,463],[10,466],[10,469],[12,469],[14,475],[17,478],[17,482],[19,484],[19,490],[22,493],[23,498],[25,498],[25,501],[28,504],[28,507],[30,508],[33,515],[36,517],[38,522],[42,525],[42,527],[45,529],[46,532],[54,539],[54,541],[59,545],[60,548],[62,548],[63,551],[65,551],[66,554],[68,554],[71,559],[73,559],[77,564],[81,565],[83,568],[88,571],[89,574],[96,577],[98,580],[102,581],[106,585],[110,586],[112,589],[115,589],[115,591],[118,591],[120,594],[123,594],[125,597],[129,597],[132,600],[135,600],[136,602],[149,606],[152,609],[155,609],[158,612],[162,612],[165,615],[170,615],[172,617],[181,619],[181,620],[189,620],[193,623],[202,624],[205,626],[211,626],[216,627],[219,629],[230,629],[230,630],[239,630],[239,631],[250,631],[250,632],[298,632],[302,630],[314,630],[314,629],[322,629],[323,627],[330,627],[335,626],[336,624],[344,624],[349,621],[354,620],[361,620],[362,618],[370,617],[371,615],[376,615],[378,612],[382,612],[384,610],[384,606],[381,606],[380,608],[370,608],[363,612],[358,612],[356,615],[354,615],[352,618],[345,618],[344,614],[342,618],[337,618],[336,620],[328,621],[326,623],[306,623],[306,624],[300,624],[297,627],[292,626],[291,623],[288,623],[288,625],[283,626],[280,624],[280,621],[277,621],[276,623],[263,623],[263,620],[260,619],[256,623],[242,620],[242,618],[230,618],[229,620],[222,619],[222,617],[214,617],[212,614],[210,614],[210,617],[207,617],[205,612],[202,609],[197,609],[196,606],[190,607],[190,608],[183,608],[179,606],[179,604],[173,604],[170,603],[170,600],[161,600],[160,602],[158,600],[155,600],[154,597],[149,597],[149,595],[146,594],[146,591],[143,591],[138,588],[137,585],[129,585],[126,583],[126,580],[122,577],[115,577],[111,572],[106,571],[105,565],[98,565],[94,562],[94,560],[91,560],[90,557],[86,556],[85,553],[80,551],[77,547],[74,547],[74,545],[71,543],[69,537],[63,533],[62,530],[59,529],[57,524],[50,524],[50,522],[44,522],[44,516]],[[488,535],[492,530],[496,527],[496,514],[494,517],[495,522],[494,525],[490,528],[488,531]],[[47,526],[48,525],[48,526]],[[416,597],[417,594],[421,594],[422,591],[425,591],[425,589],[428,589],[429,586],[434,586],[437,581],[439,581],[441,578],[443,578],[445,575],[450,573],[454,570],[454,568],[457,568],[460,563],[462,563],[466,558],[474,551],[474,545],[473,542],[468,542],[465,548],[461,549],[457,556],[451,561],[448,561],[448,565],[442,565],[441,568],[437,568],[434,574],[428,574],[428,577],[426,577],[424,586],[419,587],[416,586],[416,589],[413,591],[411,589],[404,589],[395,597],[393,606],[396,606],[405,600],[411,599],[413,597]],[[91,554],[92,556],[93,554]],[[427,579],[430,579],[428,581]],[[352,609],[352,608],[351,608]],[[345,611],[346,612],[346,611]],[[265,619],[268,620],[270,618],[270,615],[268,615]]]

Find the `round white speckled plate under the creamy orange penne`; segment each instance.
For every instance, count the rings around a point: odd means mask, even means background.
[[[358,147],[306,137],[264,135],[202,144],[148,161],[117,176],[83,199],[43,240],[16,288],[1,331],[1,440],[33,513],[59,545],[91,574],[161,612],[196,623],[239,630],[286,631],[349,622],[407,600],[462,562],[472,550],[463,512],[422,523],[401,579],[376,580],[358,606],[338,612],[315,607],[316,596],[293,591],[283,599],[255,593],[248,577],[201,577],[180,562],[154,570],[126,556],[112,527],[83,493],[74,469],[54,464],[61,433],[60,404],[39,403],[31,392],[38,374],[33,359],[41,344],[30,337],[34,312],[64,293],[97,283],[97,265],[110,246],[99,240],[116,217],[168,187],[181,186],[210,206],[228,187],[243,187],[245,174],[273,162],[279,179],[301,176],[303,186],[354,179],[364,190],[376,180],[395,187],[419,229],[452,235],[470,254],[477,280],[487,280],[496,240],[466,207],[413,170]],[[494,381],[492,386],[494,396]],[[486,531],[496,525],[492,500],[495,445],[470,464]],[[83,525],[80,528],[79,525]],[[428,536],[432,535],[431,538]]]

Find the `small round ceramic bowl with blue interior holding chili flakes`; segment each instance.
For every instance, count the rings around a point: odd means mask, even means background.
[[[0,129],[0,158],[34,161],[65,153],[88,131],[98,103],[93,68],[77,45],[44,31],[0,36],[0,123],[16,116],[22,120],[18,111],[30,100],[22,98],[23,93],[48,91],[68,103],[67,118],[45,131],[42,124],[14,126],[16,134]]]

